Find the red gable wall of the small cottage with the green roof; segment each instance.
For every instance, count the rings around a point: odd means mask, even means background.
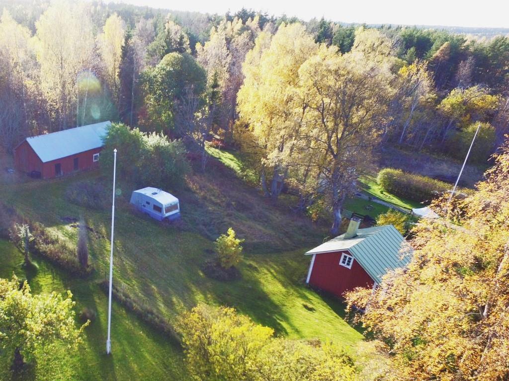
[[[316,254],[309,284],[342,298],[345,291],[355,287],[372,288],[374,281],[355,259],[352,268],[340,265],[343,252]],[[348,254],[348,251],[346,251]]]

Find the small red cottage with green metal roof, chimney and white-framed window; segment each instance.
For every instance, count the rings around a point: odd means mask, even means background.
[[[306,283],[342,298],[355,287],[374,288],[388,270],[405,267],[411,248],[392,225],[359,229],[352,217],[341,236],[306,252],[312,255]]]

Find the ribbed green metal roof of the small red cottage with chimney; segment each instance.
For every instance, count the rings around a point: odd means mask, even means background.
[[[388,270],[405,267],[413,251],[394,226],[383,225],[358,229],[357,235],[350,239],[342,234],[309,250],[306,255],[344,250],[348,250],[378,284]]]

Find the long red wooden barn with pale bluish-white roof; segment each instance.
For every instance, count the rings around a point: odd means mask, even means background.
[[[14,162],[21,172],[52,179],[77,170],[96,168],[110,122],[70,128],[28,137],[14,149]]]

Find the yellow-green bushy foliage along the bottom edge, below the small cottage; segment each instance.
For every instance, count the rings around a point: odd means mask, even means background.
[[[224,381],[353,381],[351,359],[328,343],[273,338],[232,308],[198,305],[179,321],[193,379]]]

